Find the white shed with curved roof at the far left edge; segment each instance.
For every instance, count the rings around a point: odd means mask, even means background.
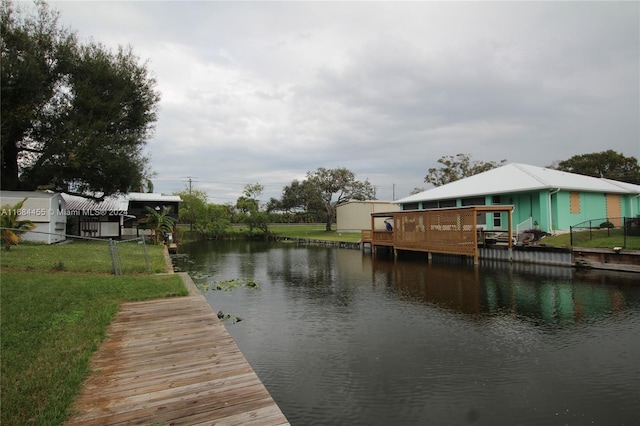
[[[37,191],[0,191],[0,206],[13,207],[26,201],[19,212],[19,220],[30,220],[36,226],[22,235],[24,241],[53,244],[66,239],[66,203],[62,195]]]

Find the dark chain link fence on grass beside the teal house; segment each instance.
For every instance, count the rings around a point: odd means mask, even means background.
[[[640,236],[640,216],[591,219],[571,226],[570,232],[572,247],[606,238],[626,248],[628,237]]]

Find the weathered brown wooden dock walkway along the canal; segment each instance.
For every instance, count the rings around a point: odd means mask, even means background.
[[[289,424],[206,299],[181,275],[188,297],[122,304],[67,425]]]

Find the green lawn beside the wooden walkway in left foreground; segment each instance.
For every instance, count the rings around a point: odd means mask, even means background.
[[[19,245],[2,252],[3,425],[63,424],[119,304],[187,294],[176,275],[108,274],[102,248]],[[162,247],[148,248],[153,270],[166,270]],[[131,263],[146,270],[144,260]]]

